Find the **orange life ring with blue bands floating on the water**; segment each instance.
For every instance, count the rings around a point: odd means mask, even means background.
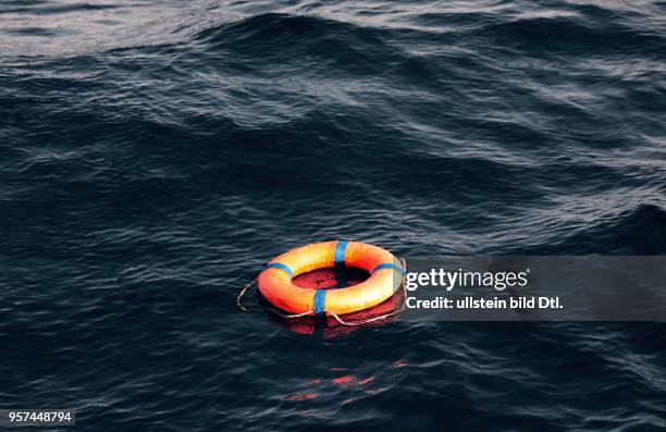
[[[309,289],[292,277],[335,266],[363,269],[370,277],[340,289]],[[381,247],[359,242],[313,243],[292,249],[269,262],[259,274],[259,292],[273,306],[292,313],[344,314],[371,308],[390,298],[403,283],[405,269]]]

